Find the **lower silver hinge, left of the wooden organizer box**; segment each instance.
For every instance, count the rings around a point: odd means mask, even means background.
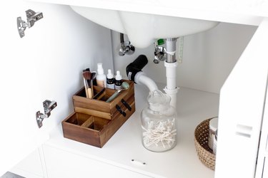
[[[45,100],[43,102],[43,106],[44,106],[44,114],[42,114],[40,111],[36,112],[36,122],[39,128],[43,126],[42,122],[44,118],[48,118],[51,115],[50,113],[51,110],[56,108],[56,101]]]

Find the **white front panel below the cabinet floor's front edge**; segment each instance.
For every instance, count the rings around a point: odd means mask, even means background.
[[[149,178],[146,175],[89,159],[71,152],[44,145],[44,157],[49,178],[56,177],[128,177]]]

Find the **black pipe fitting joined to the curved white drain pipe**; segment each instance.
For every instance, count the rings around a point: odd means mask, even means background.
[[[148,63],[148,59],[145,55],[140,55],[138,58],[136,58],[132,63],[129,63],[128,66],[126,66],[126,75],[129,78],[129,80],[134,81],[135,75],[142,71],[142,68],[146,66]]]

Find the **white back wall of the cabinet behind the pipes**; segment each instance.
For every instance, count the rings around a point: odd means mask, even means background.
[[[183,62],[177,69],[177,86],[219,93],[230,71],[237,63],[247,43],[252,38],[256,26],[219,23],[215,28],[184,37]],[[155,81],[165,83],[164,63],[153,63],[154,45],[137,49],[132,56],[119,56],[119,33],[112,32],[114,68],[125,68],[140,54],[149,60],[144,72]]]

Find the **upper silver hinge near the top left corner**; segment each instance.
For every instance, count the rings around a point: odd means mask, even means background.
[[[18,31],[19,31],[19,36],[22,38],[24,37],[24,31],[26,30],[26,28],[31,28],[32,26],[34,26],[34,23],[36,21],[39,21],[40,19],[43,18],[43,13],[41,12],[35,12],[31,9],[26,11],[26,17],[27,17],[27,21],[23,21],[21,19],[21,17],[17,17],[16,19],[16,23],[17,23],[17,27],[18,27]]]

